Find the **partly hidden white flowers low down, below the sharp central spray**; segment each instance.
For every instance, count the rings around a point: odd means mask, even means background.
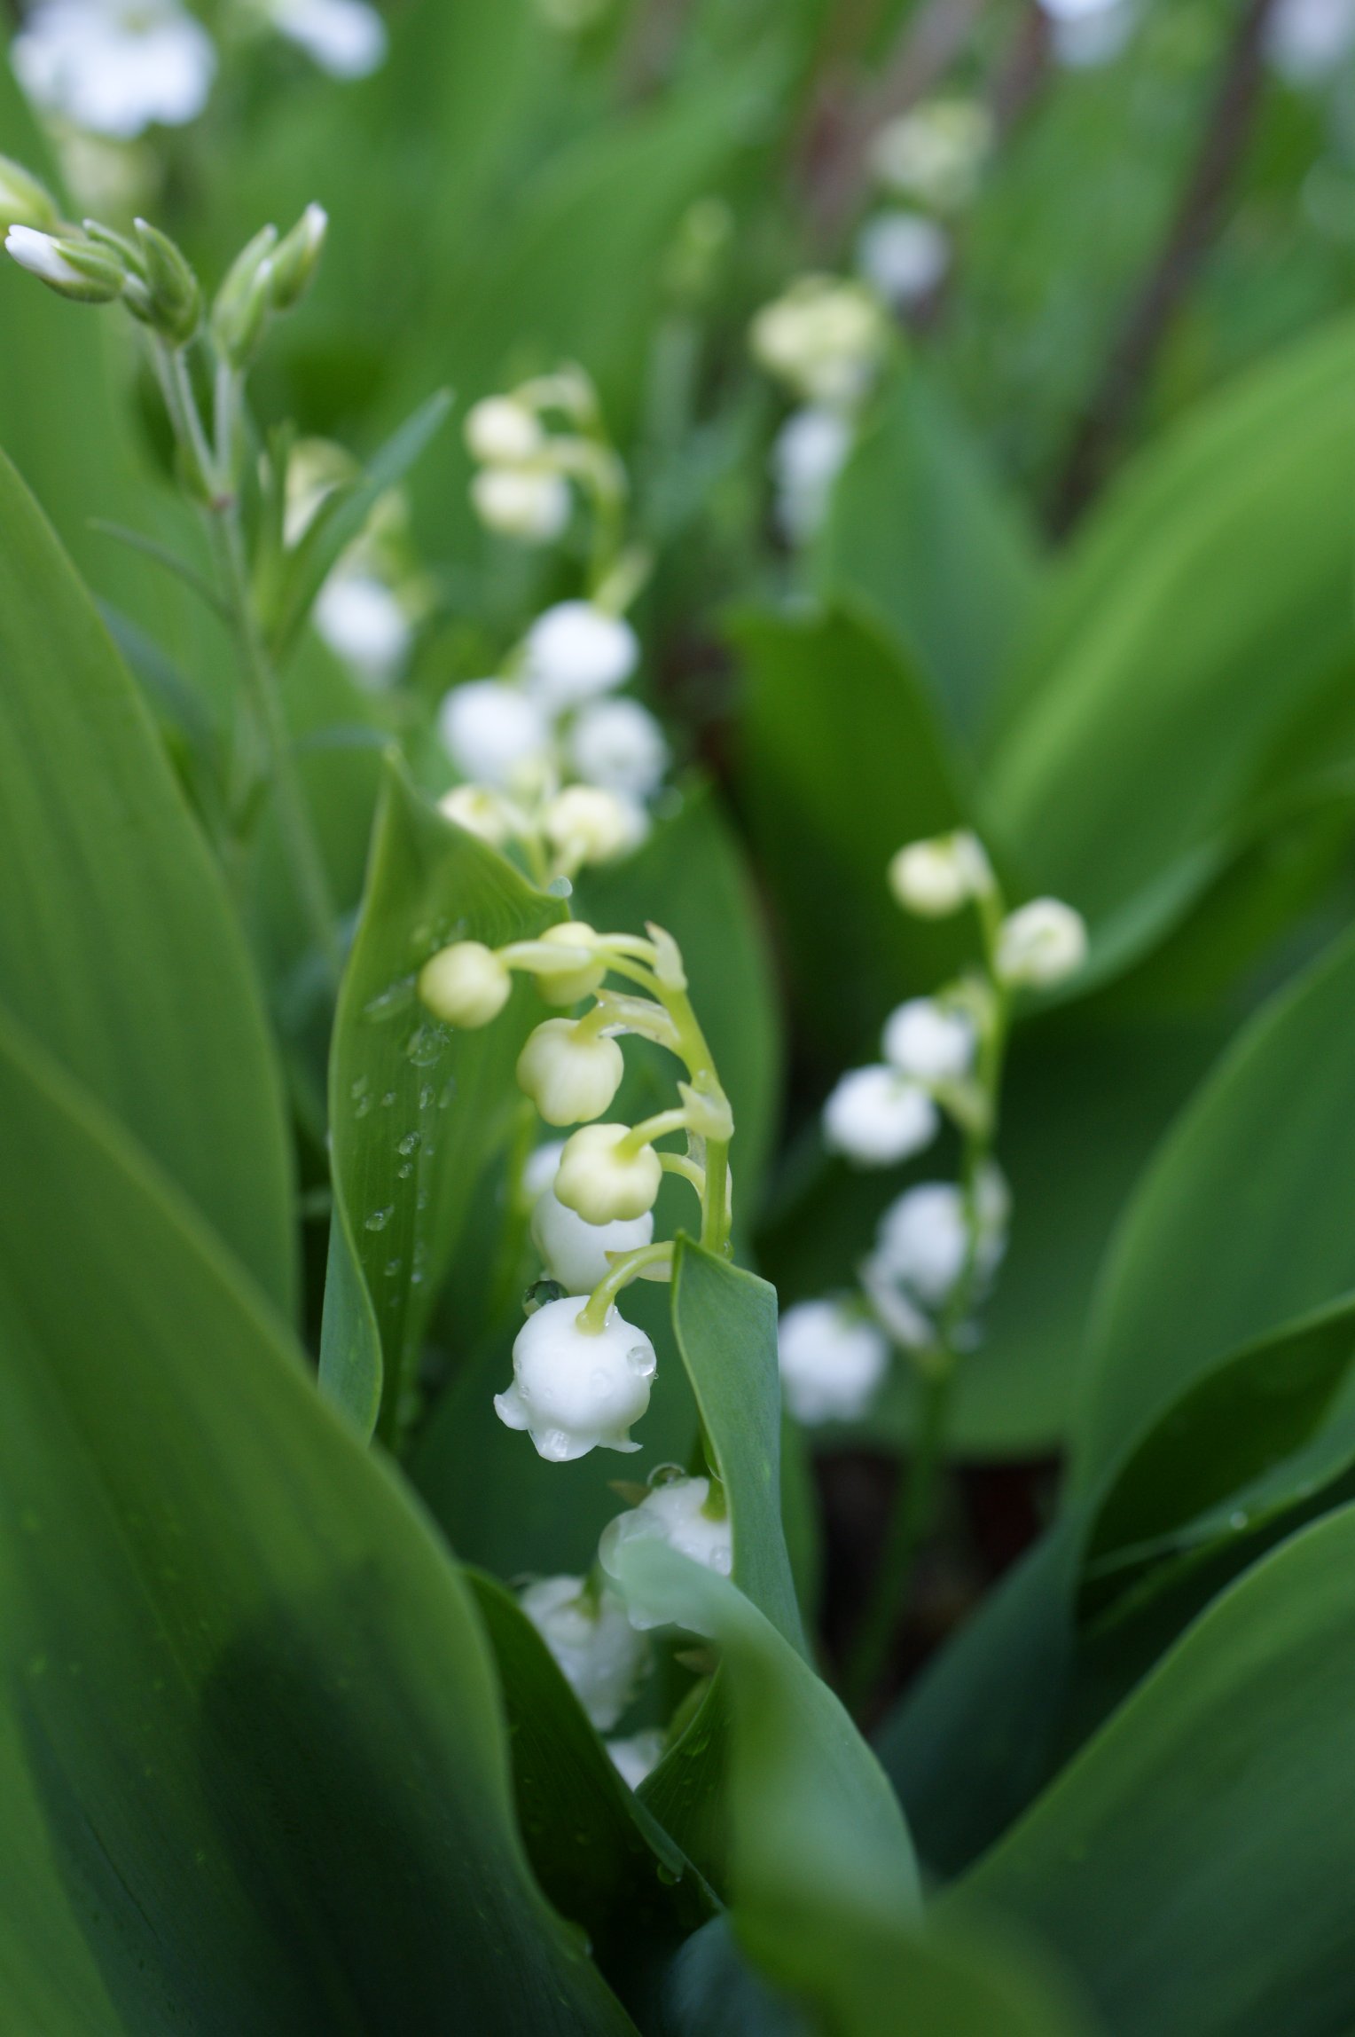
[[[519,1605],[549,1648],[555,1664],[600,1733],[621,1721],[641,1678],[653,1666],[649,1632],[663,1615],[614,1591],[616,1550],[635,1536],[667,1542],[680,1554],[720,1577],[732,1571],[728,1513],[710,1479],[661,1471],[637,1507],[602,1530],[598,1562],[588,1579],[541,1577],[519,1591]],[[616,1770],[639,1788],[663,1754],[663,1733],[641,1729],[608,1740]]]

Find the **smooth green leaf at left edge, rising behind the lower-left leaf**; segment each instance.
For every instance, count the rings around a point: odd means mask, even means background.
[[[132,678],[4,458],[0,672],[0,998],[289,1310],[283,1094],[238,923]]]

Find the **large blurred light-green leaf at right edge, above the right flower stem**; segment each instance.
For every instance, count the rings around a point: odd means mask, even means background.
[[[1245,823],[1268,750],[1349,684],[1349,322],[1141,456],[1036,629],[989,811],[1034,884],[1099,923]]]

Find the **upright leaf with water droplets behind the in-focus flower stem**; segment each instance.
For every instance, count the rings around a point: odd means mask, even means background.
[[[557,900],[444,821],[391,764],[330,1055],[334,1285],[319,1361],[326,1393],[364,1432],[380,1414],[389,1442],[439,1281],[513,1122],[513,1065],[543,1010],[519,982],[494,1025],[460,1033],[419,1004],[417,974],[448,941],[503,947],[559,917]]]

